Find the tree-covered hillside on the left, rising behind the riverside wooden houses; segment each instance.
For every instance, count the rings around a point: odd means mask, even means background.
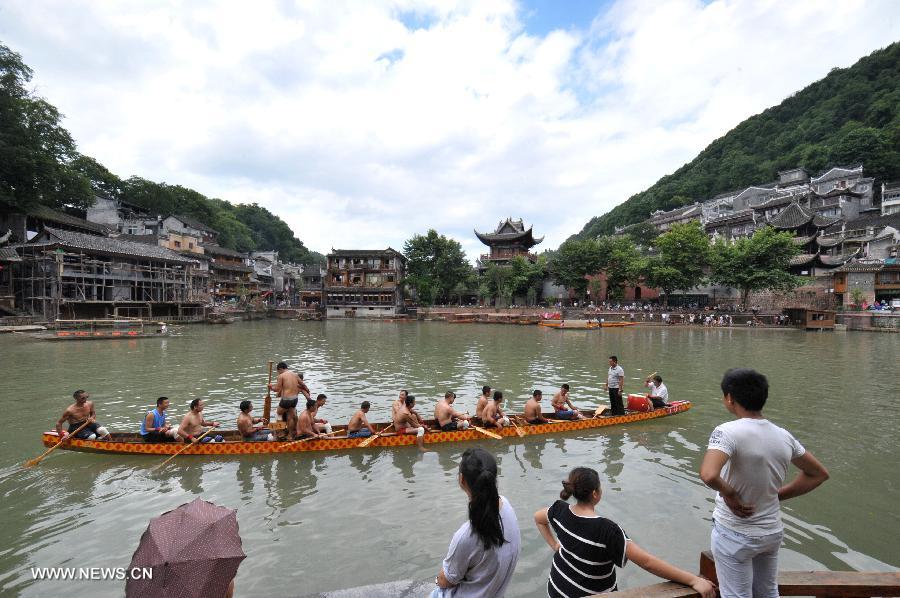
[[[28,89],[31,77],[22,57],[0,44],[0,210],[27,211],[37,205],[83,209],[95,194],[103,194],[155,214],[193,216],[220,231],[219,243],[230,249],[274,249],[285,261],[324,261],[286,222],[255,203],[235,205],[137,176],[123,180],[80,154],[59,111]]]

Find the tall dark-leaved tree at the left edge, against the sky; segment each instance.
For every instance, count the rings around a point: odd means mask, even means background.
[[[75,141],[59,111],[26,89],[31,77],[22,57],[0,45],[0,208],[88,207],[94,194],[72,166]]]

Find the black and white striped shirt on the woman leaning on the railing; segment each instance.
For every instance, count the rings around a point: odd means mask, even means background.
[[[560,549],[553,555],[547,595],[576,598],[616,590],[616,567],[624,567],[628,536],[604,517],[575,515],[558,500],[547,511]]]

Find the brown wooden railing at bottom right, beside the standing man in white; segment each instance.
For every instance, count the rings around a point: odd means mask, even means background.
[[[708,550],[700,553],[700,575],[718,582],[716,564]],[[782,596],[821,596],[868,598],[900,596],[900,573],[862,571],[782,571],[778,574],[778,593]],[[667,581],[618,592],[618,598],[688,598],[699,596],[693,589]]]

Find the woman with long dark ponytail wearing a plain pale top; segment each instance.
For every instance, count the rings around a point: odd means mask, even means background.
[[[497,461],[484,449],[469,449],[459,463],[459,487],[469,497],[469,517],[447,550],[432,598],[500,598],[519,560],[516,513],[497,491]]]

